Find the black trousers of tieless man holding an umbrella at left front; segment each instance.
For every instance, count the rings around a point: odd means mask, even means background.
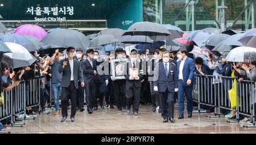
[[[68,117],[68,99],[71,99],[71,117],[76,115],[77,89],[74,81],[71,81],[67,88],[62,87],[61,90],[61,112],[63,117]]]

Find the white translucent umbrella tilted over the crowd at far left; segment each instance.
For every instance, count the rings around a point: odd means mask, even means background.
[[[19,67],[30,66],[36,61],[36,58],[22,45],[13,42],[6,42],[5,44],[12,52],[3,54],[2,58],[8,63],[9,67],[16,69]]]

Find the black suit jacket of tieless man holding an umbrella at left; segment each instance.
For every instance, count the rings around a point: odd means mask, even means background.
[[[67,66],[64,67],[63,69],[63,62],[67,61]],[[61,66],[59,67],[59,72],[63,73],[62,74],[62,78],[61,78],[61,87],[65,87],[67,88],[71,82],[71,68],[69,65],[69,61],[68,58],[65,58],[63,60],[60,61],[61,62]],[[81,64],[79,61],[77,61],[77,59],[73,59],[74,62],[74,66],[73,66],[73,77],[74,77],[74,83],[75,83],[75,87],[76,89],[79,88],[79,82],[84,82],[84,75],[82,74],[82,69],[81,69]]]

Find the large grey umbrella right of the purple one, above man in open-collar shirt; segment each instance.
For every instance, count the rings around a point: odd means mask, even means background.
[[[72,29],[56,29],[48,33],[41,42],[43,42],[45,46],[40,49],[40,51],[51,53],[54,53],[56,48],[73,47],[75,49],[81,48],[87,50],[87,47],[91,44],[88,37],[83,33]]]

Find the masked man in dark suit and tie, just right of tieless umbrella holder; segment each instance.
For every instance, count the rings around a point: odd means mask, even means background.
[[[94,50],[88,49],[86,51],[87,59],[82,61],[82,71],[84,71],[84,80],[85,80],[85,100],[87,104],[87,111],[89,114],[93,113],[93,103],[97,102],[96,93],[96,77],[97,62],[94,58]]]

